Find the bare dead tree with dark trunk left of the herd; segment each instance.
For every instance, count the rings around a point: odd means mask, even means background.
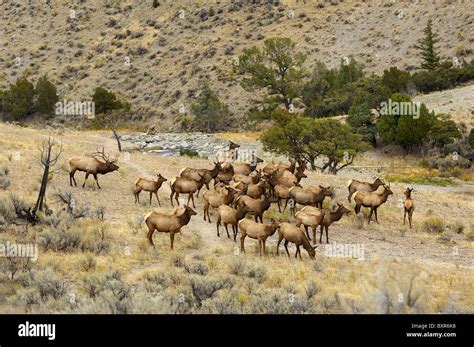
[[[41,180],[41,188],[38,193],[38,199],[36,200],[35,207],[31,211],[33,216],[36,216],[37,211],[43,210],[43,205],[46,201],[46,188],[48,185],[48,179],[50,173],[54,173],[57,170],[52,170],[52,167],[58,162],[59,156],[62,153],[62,143],[57,142],[55,139],[48,137],[47,140],[41,141],[39,144],[40,150],[40,164],[43,167],[43,178]]]

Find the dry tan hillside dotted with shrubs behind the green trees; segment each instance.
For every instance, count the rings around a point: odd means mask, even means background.
[[[171,129],[209,81],[239,118],[253,97],[231,73],[243,49],[287,36],[308,68],[352,56],[367,71],[413,69],[429,17],[445,58],[472,58],[474,3],[464,0],[1,0],[0,87],[24,73],[47,73],[70,100],[104,86],[137,119]]]

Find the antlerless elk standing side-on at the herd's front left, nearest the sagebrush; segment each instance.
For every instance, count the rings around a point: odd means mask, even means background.
[[[148,227],[147,237],[153,247],[155,247],[153,233],[157,230],[170,234],[171,249],[173,249],[174,234],[179,233],[181,228],[189,223],[191,216],[197,214],[188,206],[184,207],[184,211],[178,211],[178,209],[175,209],[171,214],[152,211],[145,215],[145,224]]]

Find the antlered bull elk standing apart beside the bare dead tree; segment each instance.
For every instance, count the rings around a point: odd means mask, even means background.
[[[96,157],[99,157],[103,161],[100,161]],[[69,172],[69,185],[72,187],[72,182],[74,181],[74,185],[77,187],[74,174],[76,171],[83,171],[86,173],[86,177],[84,179],[84,183],[82,184],[82,188],[84,188],[86,185],[89,175],[92,175],[94,176],[95,182],[97,183],[97,188],[102,189],[99,185],[99,181],[97,180],[97,175],[105,175],[106,173],[118,170],[119,167],[115,165],[116,162],[117,159],[111,160],[109,156],[104,153],[104,148],[102,148],[102,151],[97,149],[97,151],[94,152],[90,157],[72,157],[69,159],[69,166],[71,167],[71,171]]]

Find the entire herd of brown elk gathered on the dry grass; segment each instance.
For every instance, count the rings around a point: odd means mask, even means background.
[[[235,151],[240,146],[230,142],[229,150]],[[89,175],[93,175],[100,189],[97,180],[98,174],[106,174],[119,169],[115,164],[117,160],[111,160],[104,153],[98,150],[89,157],[73,157],[69,160],[71,167],[70,185],[77,186],[74,174],[76,171],[86,173],[85,182]],[[266,255],[266,241],[269,237],[278,232],[277,254],[282,241],[288,256],[288,243],[293,243],[296,247],[295,257],[300,257],[303,247],[314,259],[317,244],[316,232],[320,227],[319,242],[322,243],[323,231],[326,232],[326,242],[329,243],[329,226],[341,220],[344,215],[351,214],[351,211],[341,203],[337,203],[333,208],[323,208],[325,198],[335,198],[334,189],[323,185],[303,187],[301,180],[306,178],[306,162],[304,160],[293,160],[289,163],[266,164],[258,169],[259,163],[263,160],[253,155],[251,163],[242,162],[214,162],[211,169],[183,168],[179,176],[169,180],[171,190],[170,202],[174,207],[173,199],[177,206],[170,213],[149,212],[145,215],[145,224],[148,228],[147,238],[153,244],[153,233],[155,231],[169,233],[171,249],[173,249],[174,235],[187,225],[192,216],[197,215],[194,196],[199,197],[203,186],[206,191],[202,193],[203,218],[204,221],[211,221],[211,210],[217,215],[216,228],[217,236],[220,237],[219,228],[223,225],[229,239],[237,240],[240,232],[240,251],[245,252],[246,237],[258,241],[260,256]],[[133,194],[135,203],[140,202],[140,193],[149,192],[150,205],[153,194],[159,206],[158,190],[163,183],[168,181],[161,174],[156,175],[155,180],[148,180],[138,177],[134,183]],[[213,187],[210,184],[213,181]],[[380,191],[379,187],[382,187]],[[390,185],[386,185],[381,178],[376,178],[373,183],[361,182],[355,179],[347,182],[348,201],[354,202],[354,211],[359,214],[361,207],[370,209],[368,223],[372,216],[375,222],[379,223],[377,210],[383,205],[388,197],[393,194]],[[413,189],[407,188],[404,201],[404,220],[408,215],[410,228],[412,227],[412,215],[414,203],[411,197]],[[187,195],[187,204],[180,205],[180,194]],[[194,209],[189,207],[192,202]],[[284,202],[284,206],[283,205]],[[272,204],[278,206],[278,211],[282,213],[289,205],[294,223],[283,222],[283,219],[275,220],[271,218],[264,223],[264,214]],[[297,211],[297,206],[301,209]],[[246,218],[247,215],[253,218]],[[228,227],[232,228],[232,236]],[[312,230],[312,238],[310,237]],[[312,241],[312,243],[311,243]]]

